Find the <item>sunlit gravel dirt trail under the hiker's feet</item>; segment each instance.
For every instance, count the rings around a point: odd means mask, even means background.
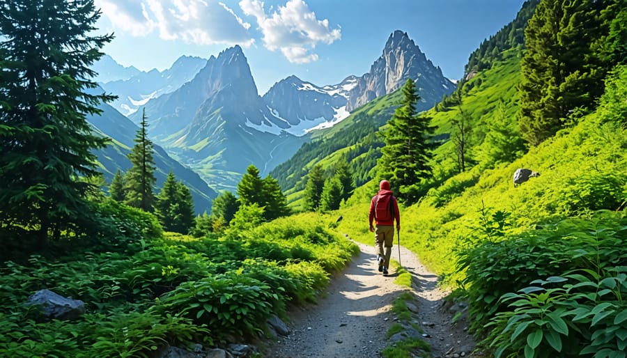
[[[325,298],[291,311],[291,334],[279,336],[265,357],[380,357],[388,345],[385,334],[394,324],[392,302],[405,288],[394,284],[394,270],[388,277],[378,272],[373,247],[359,244],[359,249],[346,270],[332,278]],[[398,260],[396,246],[392,258]],[[404,247],[401,264],[412,274],[415,321],[424,329],[431,357],[472,357],[472,337],[465,332],[465,322],[451,324],[452,313],[444,309],[447,293],[437,287],[438,277]]]

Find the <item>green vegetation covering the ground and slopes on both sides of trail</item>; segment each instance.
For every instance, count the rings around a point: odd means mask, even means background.
[[[153,213],[121,200],[129,189],[121,173],[109,198],[93,175],[88,150],[103,143],[84,116],[108,97],[80,89],[91,86],[88,64],[108,37],[84,38],[75,58],[63,44],[54,56],[33,55],[58,61],[51,68],[20,57],[44,47],[29,47],[39,38],[24,38],[18,13],[47,19],[39,24],[49,33],[69,18],[82,22],[72,28],[80,37],[98,17],[93,1],[48,1],[59,18],[38,16],[42,3],[31,3],[0,0],[0,355],[136,357],[165,344],[258,337],[288,302],[314,301],[355,253],[339,233],[372,242],[369,199],[375,178],[389,174],[376,162],[393,145],[379,133],[406,112],[407,93],[316,134],[272,176],[249,167],[237,196],[221,194],[191,231],[189,222],[180,228],[193,237],[164,233],[179,231],[179,221],[165,223],[183,219],[171,209],[189,202],[173,176]],[[471,54],[453,95],[405,116],[431,118],[428,144],[437,148],[430,170],[408,184],[420,195],[401,211],[401,243],[455,289],[451,299],[467,300],[470,329],[495,357],[626,356],[625,5],[527,1]],[[85,102],[76,107],[76,98]],[[57,141],[76,145],[75,155]],[[514,187],[518,168],[541,175]],[[307,210],[316,212],[285,216]],[[46,250],[33,247],[41,238]],[[87,313],[42,318],[24,304],[41,288],[82,299]]]

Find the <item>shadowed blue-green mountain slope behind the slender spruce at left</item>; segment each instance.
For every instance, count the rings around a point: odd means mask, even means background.
[[[113,139],[107,148],[96,152],[104,180],[110,184],[118,169],[125,172],[130,168],[131,163],[126,155],[134,146],[133,139],[139,127],[109,104],[101,104],[100,108],[102,109],[100,116],[88,116],[87,120],[94,127],[95,132]],[[155,145],[154,159],[157,166],[156,192],[162,187],[169,171],[172,171],[174,176],[182,180],[192,192],[196,213],[210,212],[212,199],[217,196],[217,193],[207,185],[207,182],[191,169],[172,159],[163,148],[157,145]]]

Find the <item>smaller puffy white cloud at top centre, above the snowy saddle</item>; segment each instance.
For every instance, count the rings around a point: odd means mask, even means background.
[[[329,21],[318,20],[303,0],[288,0],[268,14],[260,0],[242,0],[240,8],[245,15],[256,18],[263,45],[270,51],[280,50],[293,63],[318,61],[318,55],[311,53],[318,42],[331,44],[341,38],[339,26],[330,29]]]

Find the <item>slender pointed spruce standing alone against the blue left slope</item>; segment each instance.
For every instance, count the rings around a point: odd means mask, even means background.
[[[146,128],[146,109],[141,116],[141,127],[137,131],[135,146],[127,157],[132,166],[124,178],[127,205],[141,210],[153,211],[155,194],[153,192],[157,179],[155,178],[155,160],[153,159],[153,142],[148,139]]]

